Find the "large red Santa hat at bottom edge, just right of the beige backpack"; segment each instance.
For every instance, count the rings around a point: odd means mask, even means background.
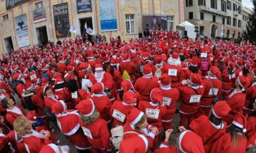
[[[120,152],[146,152],[149,146],[149,142],[144,135],[137,135],[135,137],[127,138],[120,143]]]

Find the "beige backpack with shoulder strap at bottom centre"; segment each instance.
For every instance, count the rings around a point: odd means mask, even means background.
[[[130,134],[138,134],[137,132],[133,132],[133,131],[124,132],[124,127],[123,126],[113,127],[110,130],[110,132],[111,132],[111,135],[112,135],[112,137],[110,138],[110,141],[112,141],[113,145],[118,150],[120,148],[121,141],[124,140],[124,134],[129,134],[129,133]]]

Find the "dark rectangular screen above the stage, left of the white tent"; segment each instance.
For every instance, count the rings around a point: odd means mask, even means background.
[[[143,16],[143,30],[146,29],[146,24],[148,24],[150,30],[168,29],[166,16]]]

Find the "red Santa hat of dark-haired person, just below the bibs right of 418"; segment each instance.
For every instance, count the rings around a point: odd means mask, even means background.
[[[213,115],[216,118],[223,118],[226,117],[227,114],[229,114],[231,108],[227,104],[226,101],[218,101],[214,106],[213,106]]]

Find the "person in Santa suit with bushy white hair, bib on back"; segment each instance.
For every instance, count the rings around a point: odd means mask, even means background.
[[[181,67],[179,53],[172,53],[168,58],[167,64],[163,66],[163,73],[166,73],[171,77],[171,87],[176,87],[176,84],[183,80],[183,70]]]

